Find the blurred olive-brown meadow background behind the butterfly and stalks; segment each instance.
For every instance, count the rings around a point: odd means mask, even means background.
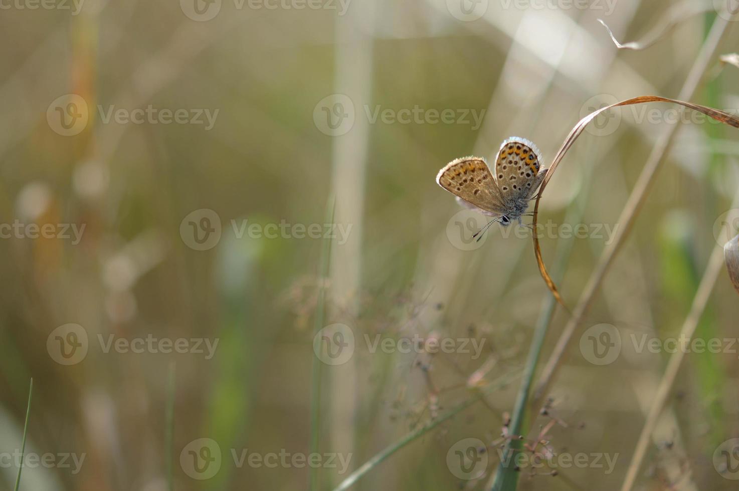
[[[0,240],[0,452],[20,446],[33,377],[27,452],[86,454],[76,474],[24,468],[21,489],[168,489],[172,363],[175,490],[307,489],[306,468],[239,468],[231,449],[310,452],[321,240],[238,238],[231,220],[323,224],[332,195],[337,222],[353,228],[346,244],[333,244],[326,324],[345,323],[358,340],[364,333],[436,333],[485,339],[486,346],[477,360],[440,354],[420,357],[420,365],[413,354],[358,348],[350,363],[324,366],[321,452],[351,453],[355,470],[432,418],[433,387],[445,389],[437,402],[444,411],[471,396],[467,377],[489,357],[495,365],[488,380],[522,367],[548,295],[531,239],[504,238],[495,226],[483,247],[454,247],[446,230],[459,208],[435,174],[456,157],[492,159],[511,135],[534,140],[548,165],[595,95],[675,97],[717,16],[712,2],[696,0],[706,13],[649,49],[619,52],[596,18],[631,41],[672,2],[618,1],[610,15],[603,2],[585,9],[483,3],[484,15],[473,21],[455,17],[458,5],[443,0],[352,0],[344,15],[341,4],[269,10],[223,1],[208,21],[185,15],[185,0],[85,0],[78,15],[71,4],[30,10],[14,3],[0,12],[0,222],[86,224],[79,244]],[[735,51],[737,26],[729,26],[721,52]],[[718,59],[714,66],[692,102],[735,114],[739,71],[720,70]],[[66,94],[89,108],[86,126],[71,137],[47,122],[52,101]],[[324,134],[313,118],[332,94],[347,95],[355,109],[353,126],[338,136]],[[219,112],[206,131],[104,123],[98,111],[150,104]],[[397,113],[416,105],[486,114],[473,129],[371,123],[365,113],[365,106]],[[622,110],[613,133],[585,133],[547,188],[539,220],[560,223],[568,204],[586,193],[582,222],[616,226],[667,124],[636,124],[633,112]],[[587,326],[679,332],[716,245],[713,225],[739,184],[734,128],[687,124],[679,131]],[[218,214],[222,236],[198,251],[180,236],[180,223],[202,208]],[[542,239],[545,260],[554,258],[557,240]],[[605,238],[573,240],[559,285],[571,305]],[[722,273],[696,336],[737,337],[738,312]],[[559,310],[544,357],[566,320]],[[69,366],[47,351],[47,337],[67,323],[89,335],[87,356]],[[210,360],[104,353],[98,334],[206,337],[219,345]],[[608,475],[593,468],[522,475],[521,490],[619,489],[667,360],[664,353],[624,352],[599,367],[576,345],[551,393],[553,412],[569,424],[552,430],[552,445],[619,453],[618,464]],[[638,489],[735,489],[715,471],[712,455],[739,436],[738,369],[737,354],[687,357]],[[471,483],[452,475],[446,453],[463,438],[496,438],[517,384],[424,434],[354,489],[487,489],[493,453],[488,474]],[[547,421],[533,422],[531,436]],[[217,475],[203,481],[189,477],[179,459],[199,438],[214,439],[223,453]],[[16,473],[0,461],[0,488],[12,489]],[[346,475],[320,469],[318,477],[319,489],[331,489]]]

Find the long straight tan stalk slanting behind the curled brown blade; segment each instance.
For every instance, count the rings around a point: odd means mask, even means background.
[[[715,58],[718,44],[721,41],[724,32],[726,32],[726,27],[728,27],[728,25],[729,21],[717,16],[709,34],[706,36],[706,41],[704,41],[701,51],[698,53],[695,63],[693,63],[693,66],[690,69],[683,88],[680,91],[680,95],[678,95],[679,100],[692,99],[695,91],[698,89],[698,85],[704,77],[706,69],[709,67],[709,64],[712,63],[713,58]],[[616,232],[613,241],[604,250],[596,268],[590,275],[588,284],[585,286],[582,295],[580,295],[579,301],[573,310],[573,314],[565,326],[565,329],[562,331],[559,340],[557,340],[554,351],[549,357],[548,363],[544,368],[542,377],[539,380],[536,391],[534,392],[533,402],[537,408],[541,405],[551,382],[554,380],[556,372],[561,365],[562,356],[564,355],[565,349],[567,348],[575,330],[579,327],[580,323],[582,323],[582,320],[585,318],[585,315],[588,313],[588,309],[590,309],[590,305],[593,303],[596,292],[601,286],[610,265],[613,264],[616,254],[619,253],[621,246],[629,235],[633,222],[636,220],[636,216],[638,215],[639,210],[641,210],[641,205],[644,203],[644,199],[647,196],[647,191],[654,182],[656,172],[660,168],[661,163],[664,160],[664,155],[667,153],[667,149],[670,148],[677,130],[678,125],[672,125],[670,128],[667,128],[667,131],[662,134],[658,142],[655,144],[649,159],[647,159],[647,163],[644,165],[644,169],[641,171],[636,185],[634,186],[626,205],[624,205],[624,209],[621,211],[621,216],[619,216],[617,223],[621,224],[621,227],[619,227]]]

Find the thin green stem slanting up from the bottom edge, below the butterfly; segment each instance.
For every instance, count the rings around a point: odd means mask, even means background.
[[[433,421],[426,423],[426,425],[423,425],[420,428],[413,430],[412,432],[408,433],[406,436],[403,436],[403,438],[398,440],[398,442],[388,445],[383,450],[375,454],[375,456],[372,457],[372,459],[369,459],[364,464],[362,464],[360,467],[358,467],[357,470],[355,470],[353,473],[348,475],[347,478],[345,478],[344,481],[341,481],[341,483],[338,484],[338,486],[335,487],[333,491],[348,490],[350,487],[352,487],[356,483],[356,481],[359,480],[359,478],[367,474],[370,470],[377,467],[378,464],[381,464],[381,462],[386,460],[389,456],[392,456],[393,453],[397,452],[398,450],[401,450],[401,448],[405,447],[407,444],[414,441],[415,439],[418,439],[418,437],[423,436],[424,434],[428,433],[430,430],[433,430],[434,428],[436,428],[438,425],[445,422],[446,420],[451,419],[454,416],[457,416],[457,414],[464,411],[466,408],[469,408],[475,402],[480,401],[481,399],[483,399],[483,397],[487,396],[488,394],[491,394],[492,392],[497,391],[500,388],[505,387],[505,385],[508,385],[509,383],[513,382],[516,379],[516,377],[520,375],[520,373],[521,373],[520,370],[516,370],[516,371],[512,371],[508,374],[503,375],[503,377],[500,377],[495,382],[491,382],[491,384],[488,385],[486,388],[483,388],[483,389],[480,389],[480,391],[477,391],[476,395],[471,396],[465,402],[462,402],[460,405],[457,405],[454,408],[447,411],[446,413],[443,413],[437,419],[434,419]]]

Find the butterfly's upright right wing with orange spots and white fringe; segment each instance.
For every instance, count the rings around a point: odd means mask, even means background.
[[[534,195],[546,176],[541,162],[539,148],[525,138],[511,137],[500,145],[495,175],[504,203],[528,200]]]

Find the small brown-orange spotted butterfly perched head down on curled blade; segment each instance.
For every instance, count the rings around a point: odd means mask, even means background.
[[[508,227],[514,220],[521,224],[528,202],[547,175],[548,169],[542,169],[541,162],[537,145],[511,137],[500,145],[495,174],[483,157],[462,157],[445,165],[436,182],[457,196],[460,205],[496,217],[483,230],[495,222]]]

